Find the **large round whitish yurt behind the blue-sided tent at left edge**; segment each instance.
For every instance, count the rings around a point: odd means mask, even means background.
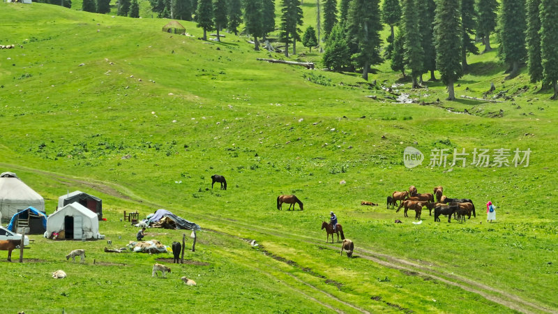
[[[13,172],[0,174],[0,219],[2,223],[9,223],[18,211],[35,207],[45,212],[45,200]]]

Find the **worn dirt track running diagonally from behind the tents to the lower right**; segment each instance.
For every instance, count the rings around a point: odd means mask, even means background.
[[[8,167],[13,170],[21,169],[29,172],[36,172],[38,174],[43,174],[47,177],[51,177],[56,181],[61,181],[61,180],[73,181],[77,184],[89,186],[102,193],[106,193],[114,197],[119,197],[122,200],[139,202],[141,204],[148,204],[154,207],[161,207],[160,204],[157,204],[156,202],[151,202],[149,200],[145,200],[144,198],[135,195],[131,190],[128,190],[128,188],[125,188],[124,186],[120,186],[118,184],[112,184],[112,183],[105,184],[104,182],[100,182],[96,180],[82,179],[79,177],[70,177],[55,172],[35,170],[33,168],[23,167],[20,165],[10,165],[6,163],[0,163],[0,166]],[[199,219],[213,221],[214,223],[223,223],[225,225],[229,224],[229,221],[226,218],[207,216],[204,214],[192,214],[192,216]],[[281,234],[278,233],[276,230],[266,229],[264,227],[259,227],[248,223],[242,223],[239,221],[237,221],[235,225],[236,227],[243,227],[246,230],[258,232],[260,234],[269,234],[275,237],[287,237],[289,239],[298,239],[298,240],[303,239],[303,241],[306,241],[307,243],[324,246],[324,243],[322,241],[318,241],[317,239],[312,237],[307,237],[303,234],[288,234],[288,235]],[[331,248],[332,250],[335,250],[335,252],[338,251],[337,246],[333,247],[327,245],[327,247]],[[470,278],[456,276],[455,274],[448,274],[440,269],[431,269],[430,267],[426,267],[425,265],[418,264],[410,260],[405,260],[393,255],[387,255],[384,253],[372,251],[372,249],[365,248],[365,246],[363,248],[358,248],[355,251],[355,253],[359,253],[359,255],[361,255],[362,258],[365,258],[366,260],[370,260],[377,264],[381,264],[384,267],[389,267],[392,269],[400,269],[401,271],[411,271],[420,276],[434,278],[435,280],[445,283],[446,285],[453,285],[455,287],[460,287],[463,290],[476,293],[485,299],[493,301],[497,304],[501,304],[502,306],[506,306],[507,308],[511,308],[515,311],[520,311],[523,313],[532,313],[535,310],[535,311],[541,311],[546,313],[557,313],[555,309],[548,308],[543,304],[537,304],[534,303],[533,301],[526,301],[515,294],[512,294],[510,292],[505,292],[503,290],[499,290],[495,287],[490,287],[489,285],[479,283],[478,281],[474,281]],[[363,311],[363,310],[359,310],[359,311]]]

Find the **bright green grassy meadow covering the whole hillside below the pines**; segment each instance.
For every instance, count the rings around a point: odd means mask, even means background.
[[[47,214],[68,190],[103,198],[100,233],[112,241],[31,235],[22,264],[2,251],[5,313],[558,311],[557,102],[525,68],[504,80],[495,50],[469,56],[456,96],[481,98],[494,82],[488,98],[502,97],[448,102],[441,82],[410,89],[388,63],[372,86],[354,73],[257,61],[284,56],[255,52],[242,36],[198,40],[193,22],[182,22],[193,36],[172,36],[166,23],[0,3],[0,45],[16,46],[0,50],[0,171],[45,197]],[[297,51],[293,60],[321,68],[319,53]],[[382,86],[416,102],[396,103]],[[405,167],[406,147],[422,165]],[[442,149],[446,165],[428,167]],[[451,165],[453,149],[469,154],[465,167]],[[509,149],[508,165],[472,165],[474,149]],[[515,167],[515,149],[529,149],[527,167]],[[211,189],[213,174],[227,190]],[[415,225],[414,211],[386,209],[410,185],[470,198],[476,217],[435,223],[424,209]],[[278,211],[280,194],[296,194],[304,210]],[[124,210],[144,218],[160,208],[202,227],[185,264],[103,251],[135,239]],[[329,211],[353,258],[340,256],[337,238],[326,244]],[[184,233],[147,231],[168,246]],[[86,249],[84,264],[66,262],[75,248]],[[152,278],[154,262],[172,273]],[[51,278],[57,269],[68,278]]]

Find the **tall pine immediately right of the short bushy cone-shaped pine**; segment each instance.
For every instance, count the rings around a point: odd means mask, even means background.
[[[363,68],[364,80],[368,80],[370,66],[382,61],[382,57],[379,56],[379,47],[382,44],[379,38],[379,31],[382,30],[380,17],[379,0],[351,1],[347,18],[347,36],[356,45],[353,60]]]

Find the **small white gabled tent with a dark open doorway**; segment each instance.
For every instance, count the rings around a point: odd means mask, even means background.
[[[105,238],[99,234],[97,215],[78,202],[67,204],[48,216],[45,238],[50,238],[53,232],[59,234],[58,239]]]

